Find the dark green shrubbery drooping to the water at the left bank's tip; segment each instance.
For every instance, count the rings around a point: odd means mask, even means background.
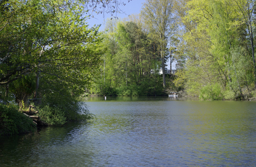
[[[49,82],[42,83],[41,87],[42,101],[39,105],[39,109],[45,106],[49,106],[48,113],[54,114],[55,110],[56,116],[60,122],[55,122],[55,124],[62,124],[63,117],[65,117],[66,122],[81,121],[85,119],[90,119],[93,116],[89,113],[87,108],[80,105],[78,97],[81,92],[78,88],[70,87],[70,84],[60,83],[60,82]],[[63,115],[64,114],[64,115]],[[61,119],[60,119],[61,118]]]

